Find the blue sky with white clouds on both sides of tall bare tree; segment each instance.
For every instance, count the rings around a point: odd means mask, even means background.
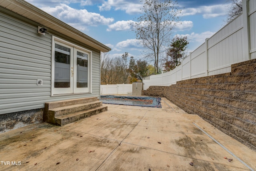
[[[26,1],[112,48],[109,56],[128,52],[135,59],[142,57],[143,48],[136,42],[129,24],[140,16],[143,5],[140,0]],[[228,0],[178,0],[182,24],[173,36],[187,36],[187,50],[192,52],[225,26],[229,3]]]

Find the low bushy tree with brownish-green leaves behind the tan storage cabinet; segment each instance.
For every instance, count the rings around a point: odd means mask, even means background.
[[[132,56],[129,63],[130,82],[134,82],[135,80],[142,82],[142,78],[146,77],[149,73],[148,69],[148,62],[141,59],[135,62]]]

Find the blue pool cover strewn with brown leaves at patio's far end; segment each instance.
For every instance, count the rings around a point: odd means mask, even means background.
[[[135,96],[117,96],[117,95],[101,95],[100,101],[107,104],[118,105],[133,105],[145,107],[159,107],[161,106],[160,97],[135,97]]]

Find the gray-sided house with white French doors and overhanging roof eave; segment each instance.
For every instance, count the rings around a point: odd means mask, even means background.
[[[42,121],[44,103],[100,97],[111,49],[24,0],[0,0],[0,133]]]

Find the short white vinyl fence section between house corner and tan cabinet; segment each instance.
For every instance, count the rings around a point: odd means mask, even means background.
[[[132,84],[107,84],[100,85],[100,93],[107,94],[132,94]]]

